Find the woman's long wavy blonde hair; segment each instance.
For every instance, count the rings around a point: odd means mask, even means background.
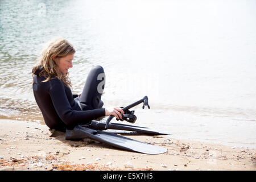
[[[72,55],[75,52],[76,51],[72,44],[65,39],[57,38],[51,42],[48,42],[37,59],[38,64],[33,68],[33,78],[35,72],[39,69],[41,70],[39,76],[46,77],[46,80],[43,82],[47,82],[57,77],[60,81],[63,82],[64,85],[72,88],[71,80],[68,77],[68,72],[66,74],[61,73],[59,67],[53,60],[53,57],[54,59],[57,57],[65,57],[67,55]]]

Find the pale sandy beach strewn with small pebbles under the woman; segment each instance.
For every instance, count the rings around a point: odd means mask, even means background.
[[[0,170],[248,170],[256,168],[255,149],[177,140],[165,135],[129,138],[168,151],[147,155],[85,139],[65,140],[35,122],[0,121]]]

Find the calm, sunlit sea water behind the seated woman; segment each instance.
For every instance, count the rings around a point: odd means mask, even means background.
[[[180,139],[256,147],[256,1],[0,1],[0,118],[44,123],[31,69],[43,44],[76,49],[80,92],[93,65],[105,106]]]

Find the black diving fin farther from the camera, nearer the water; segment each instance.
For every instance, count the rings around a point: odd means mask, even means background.
[[[105,123],[103,122],[98,122],[93,120],[90,125],[86,125],[89,129],[95,129],[95,130],[105,130]],[[151,134],[151,135],[169,135],[164,132],[160,131],[153,131],[148,129],[147,127],[142,127],[142,126],[134,126],[134,125],[125,125],[122,123],[109,123],[108,130],[125,130],[125,131],[136,131],[138,133],[143,133],[143,134]]]

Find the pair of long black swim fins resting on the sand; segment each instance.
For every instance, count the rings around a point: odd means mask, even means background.
[[[139,142],[138,140],[123,137],[108,131],[102,131],[105,130],[105,124],[106,123],[93,120],[89,125],[77,125],[72,130],[66,130],[65,139],[77,140],[90,138],[97,140],[98,142],[109,144],[113,147],[141,152],[143,154],[162,154],[167,151],[167,149],[163,147],[153,146],[151,144]],[[109,123],[108,130],[109,129],[135,131],[139,134],[168,135],[167,133],[150,130],[147,127],[125,125],[121,123]]]

